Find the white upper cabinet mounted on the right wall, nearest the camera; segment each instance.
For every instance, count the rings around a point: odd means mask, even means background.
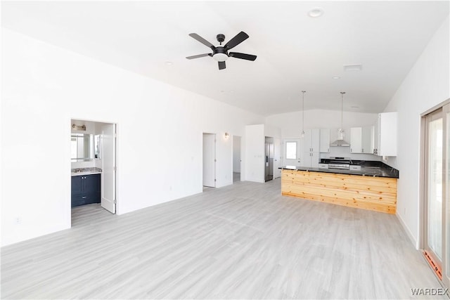
[[[378,114],[373,131],[373,154],[397,156],[397,112]]]

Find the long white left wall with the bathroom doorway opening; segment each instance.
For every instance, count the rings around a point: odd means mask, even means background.
[[[217,133],[217,186],[231,184],[224,132],[245,143],[264,122],[4,28],[1,47],[1,245],[70,228],[71,119],[117,123],[117,214],[201,193],[203,132]]]

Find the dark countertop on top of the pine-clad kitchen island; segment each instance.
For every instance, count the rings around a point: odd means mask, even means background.
[[[297,170],[297,171],[314,171],[323,173],[335,173],[335,174],[348,174],[348,175],[360,175],[360,176],[373,176],[373,177],[387,177],[387,178],[399,178],[399,170],[389,167],[383,162],[374,162],[373,165],[368,161],[357,161],[361,166],[361,171],[354,170],[342,170],[342,169],[321,169],[321,168],[309,168],[309,167],[281,167],[278,169],[285,170]],[[354,164],[353,164],[354,165]]]

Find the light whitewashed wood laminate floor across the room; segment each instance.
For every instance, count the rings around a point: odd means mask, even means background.
[[[1,249],[1,297],[409,299],[440,287],[396,216],[280,188],[242,181],[122,216],[78,207],[70,230]]]

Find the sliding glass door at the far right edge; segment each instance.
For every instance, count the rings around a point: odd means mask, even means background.
[[[450,103],[422,117],[421,197],[425,258],[450,287]]]

